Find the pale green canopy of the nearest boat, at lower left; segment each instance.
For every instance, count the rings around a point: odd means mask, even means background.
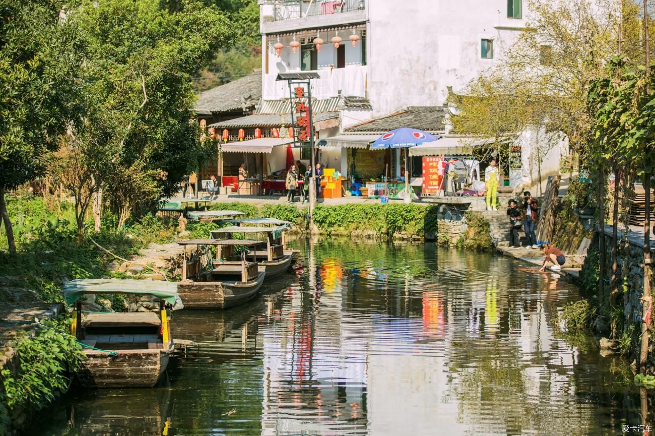
[[[184,307],[178,295],[178,284],[170,281],[76,279],[64,285],[64,300],[69,305],[86,294],[149,294],[161,298],[173,310]]]

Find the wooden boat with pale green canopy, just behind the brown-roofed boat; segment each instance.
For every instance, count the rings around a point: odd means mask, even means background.
[[[259,253],[246,254],[248,260],[259,262],[259,271],[265,271],[266,277],[275,277],[276,275],[286,273],[291,266],[291,254],[284,254],[282,245],[282,235],[289,228],[280,227],[246,227],[246,226],[229,226],[217,230],[212,230],[212,238],[221,237],[231,238],[234,233],[244,233],[250,235],[264,235],[266,251]]]

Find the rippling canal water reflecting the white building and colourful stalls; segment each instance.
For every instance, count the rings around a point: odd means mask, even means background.
[[[434,244],[295,241],[301,266],[224,312],[154,389],[73,389],[56,435],[616,435],[652,425],[623,359],[557,329],[579,298],[518,260]],[[641,431],[639,432],[641,434]]]

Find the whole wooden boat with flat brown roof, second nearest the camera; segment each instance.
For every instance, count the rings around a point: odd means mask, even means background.
[[[178,293],[184,298],[187,309],[228,309],[238,306],[257,294],[264,282],[265,272],[259,263],[246,260],[246,248],[257,254],[261,241],[248,239],[190,239],[181,241],[185,247],[182,264],[182,281]],[[195,256],[187,260],[186,247],[196,245]],[[216,257],[212,258],[212,247]],[[241,250],[233,260],[235,247]]]

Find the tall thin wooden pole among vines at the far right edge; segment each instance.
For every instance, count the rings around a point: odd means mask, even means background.
[[[648,44],[648,1],[644,3],[644,39],[646,50],[646,96],[650,97],[650,46]],[[647,147],[647,144],[646,144]],[[648,159],[645,152],[644,159]],[[645,165],[646,167],[647,165]],[[643,304],[643,323],[641,325],[641,353],[639,354],[639,372],[646,372],[648,361],[648,340],[650,338],[650,312],[652,311],[652,297],[650,296],[650,176],[651,171],[644,172],[644,189],[646,191],[646,217],[644,219],[644,293],[641,298]]]

